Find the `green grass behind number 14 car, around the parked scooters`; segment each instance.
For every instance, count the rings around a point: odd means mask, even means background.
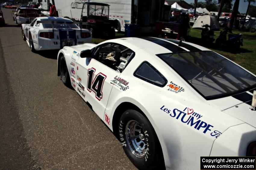
[[[223,28],[221,28],[223,29]],[[190,29],[188,39],[189,42],[204,46],[206,48],[209,48],[227,58],[230,60],[238,63],[239,65],[243,66],[245,69],[251,71],[252,73],[256,74],[256,34],[251,32],[243,32],[239,30],[233,30],[234,34],[242,33],[243,38],[243,46],[241,46],[240,49],[233,49],[230,46],[220,45],[217,46],[215,43],[212,45],[205,45],[201,42],[201,30],[199,29]],[[220,31],[214,32],[214,39],[217,39],[217,37],[220,35]],[[117,33],[116,38],[122,38],[124,37],[124,34]],[[98,44],[100,42],[103,42],[107,39],[92,39],[92,43]]]

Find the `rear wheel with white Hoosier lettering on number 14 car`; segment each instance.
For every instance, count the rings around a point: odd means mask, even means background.
[[[136,110],[126,110],[120,118],[118,131],[124,152],[137,168],[164,167],[161,145],[145,116]]]

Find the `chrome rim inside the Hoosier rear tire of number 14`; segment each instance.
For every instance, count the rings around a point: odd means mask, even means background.
[[[148,144],[142,126],[137,121],[130,120],[126,124],[125,135],[132,153],[136,157],[144,157],[147,153]]]

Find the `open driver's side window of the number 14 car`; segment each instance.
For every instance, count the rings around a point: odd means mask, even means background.
[[[95,60],[120,73],[134,56],[135,53],[130,48],[116,43],[105,43],[99,46],[93,54]]]

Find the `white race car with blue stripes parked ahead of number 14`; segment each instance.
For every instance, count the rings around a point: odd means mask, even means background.
[[[72,20],[61,17],[37,17],[30,24],[22,24],[21,33],[33,52],[92,41],[89,30],[80,29]]]

